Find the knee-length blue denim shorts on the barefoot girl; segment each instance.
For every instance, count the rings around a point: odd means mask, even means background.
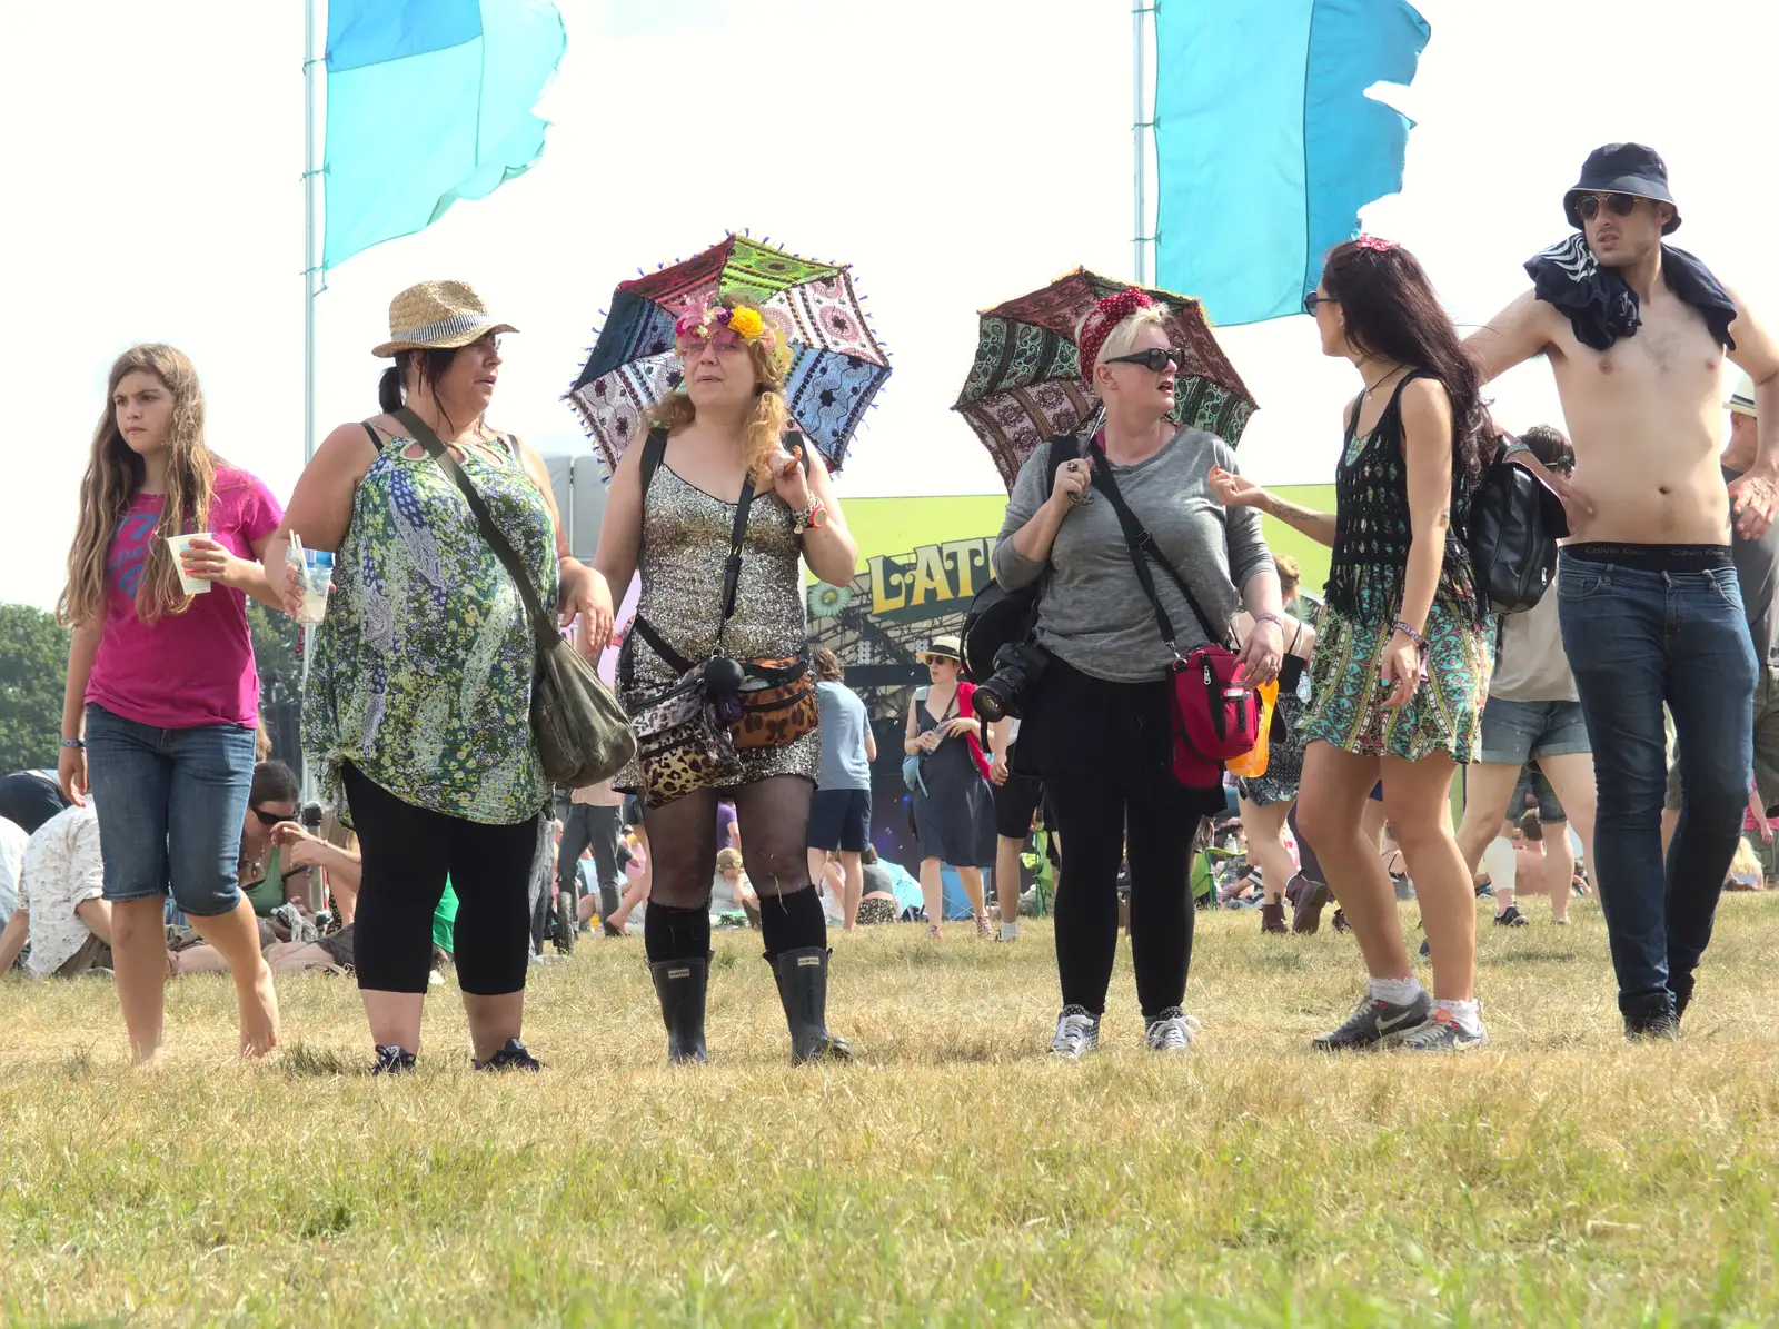
[[[87,779],[100,817],[105,898],[162,897],[197,918],[240,902],[240,827],[253,729],[158,729],[87,706]]]

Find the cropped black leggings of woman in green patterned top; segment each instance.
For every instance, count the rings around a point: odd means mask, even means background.
[[[537,817],[482,826],[404,802],[347,765],[345,797],[365,858],[354,964],[374,993],[425,993],[432,914],[445,877],[457,891],[457,986],[471,996],[525,989]]]

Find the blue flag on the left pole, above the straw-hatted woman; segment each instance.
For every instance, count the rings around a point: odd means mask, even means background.
[[[329,0],[322,267],[530,169],[564,50],[553,0]]]

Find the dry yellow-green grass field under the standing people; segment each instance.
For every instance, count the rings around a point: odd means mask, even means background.
[[[1772,1324],[1779,898],[1726,897],[1679,1044],[1619,1037],[1598,909],[1482,929],[1491,1048],[1324,1059],[1350,939],[1201,916],[1199,1046],[1055,1066],[1044,925],[834,936],[863,1051],[792,1069],[719,934],[706,1069],[662,1064],[640,941],[534,970],[539,1076],[473,1075],[454,995],[372,1080],[350,982],[229,1060],[180,980],[162,1067],[103,980],[0,982],[0,1320],[25,1324]]]

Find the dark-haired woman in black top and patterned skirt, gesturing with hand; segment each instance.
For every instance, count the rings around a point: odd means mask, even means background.
[[[1304,310],[1322,352],[1352,361],[1364,384],[1343,416],[1334,514],[1236,475],[1215,473],[1211,484],[1222,502],[1260,507],[1334,550],[1297,817],[1372,984],[1316,1046],[1471,1048],[1487,1041],[1475,998],[1477,909],[1446,793],[1453,767],[1478,756],[1489,690],[1493,630],[1462,532],[1494,429],[1457,329],[1400,246],[1373,237],[1336,246]],[[1414,977],[1389,874],[1359,833],[1379,776],[1421,902],[1432,998]]]

